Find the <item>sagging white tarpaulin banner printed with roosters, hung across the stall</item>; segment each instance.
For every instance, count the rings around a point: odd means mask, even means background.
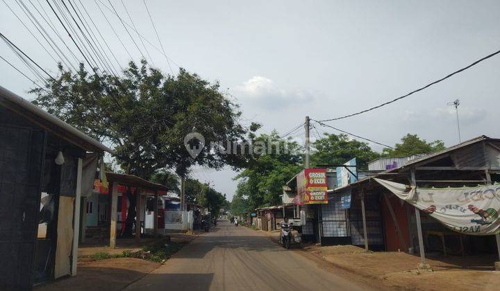
[[[394,195],[454,231],[476,236],[500,232],[500,184],[460,188],[415,188],[374,179]]]

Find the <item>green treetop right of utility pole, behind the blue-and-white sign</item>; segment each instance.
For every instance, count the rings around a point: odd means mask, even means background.
[[[324,134],[322,139],[314,142],[315,151],[311,156],[311,165],[342,165],[356,157],[360,169],[367,168],[369,161],[379,157],[368,143],[349,139],[346,134]]]

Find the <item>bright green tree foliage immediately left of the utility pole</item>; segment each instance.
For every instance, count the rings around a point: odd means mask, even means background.
[[[302,150],[297,143],[281,139],[276,131],[261,134],[253,143],[270,143],[272,148],[270,153],[254,154],[247,168],[235,177],[239,180],[237,194],[247,197],[249,209],[281,203],[282,186],[302,169]]]

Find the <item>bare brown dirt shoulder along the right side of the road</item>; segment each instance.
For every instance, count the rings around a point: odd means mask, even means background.
[[[272,240],[278,233],[265,232]],[[427,254],[432,270],[417,270],[420,257],[403,252],[365,252],[352,245],[321,247],[293,245],[290,249],[313,259],[330,272],[383,290],[496,290],[500,272],[493,265],[497,256],[443,256]]]

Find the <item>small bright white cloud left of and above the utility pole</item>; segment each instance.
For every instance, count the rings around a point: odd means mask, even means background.
[[[273,80],[263,76],[253,76],[235,89],[236,97],[245,103],[275,110],[297,103],[306,103],[313,99],[306,91],[290,91],[280,88]]]

